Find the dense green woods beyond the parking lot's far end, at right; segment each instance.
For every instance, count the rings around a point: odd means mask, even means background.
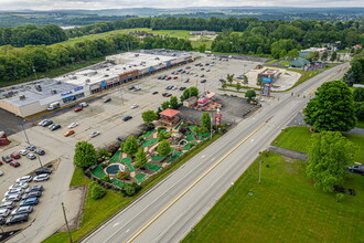
[[[364,44],[364,28],[358,21],[323,22],[320,21],[263,21],[249,24],[242,33],[225,29],[212,43],[212,51],[271,54],[285,57],[290,51],[335,44],[339,49]]]

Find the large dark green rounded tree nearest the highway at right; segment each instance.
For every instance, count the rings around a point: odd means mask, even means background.
[[[320,131],[347,131],[356,123],[353,95],[342,81],[322,84],[303,114],[304,122]]]

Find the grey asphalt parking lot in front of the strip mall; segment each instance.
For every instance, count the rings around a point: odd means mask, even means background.
[[[212,64],[212,62],[215,62],[215,64],[205,65],[206,63]],[[202,63],[204,66],[195,66],[195,63]],[[245,72],[247,72],[257,64],[261,63],[239,60],[218,61],[218,59],[213,60],[211,56],[204,56],[184,66],[156,73],[132,83],[125,84],[121,87],[104,91],[98,94],[98,97],[89,99],[88,106],[81,112],[75,113],[74,108],[76,105],[74,105],[28,122],[25,124],[25,129],[30,144],[41,147],[46,151],[44,156],[41,156],[41,162],[42,165],[52,165],[54,170],[51,180],[45,182],[46,193],[41,199],[42,203],[36,207],[36,210],[32,214],[32,220],[35,215],[36,220],[30,228],[23,231],[23,234],[29,239],[28,242],[40,242],[64,224],[61,202],[64,202],[67,208],[68,220],[73,220],[78,213],[82,196],[79,191],[68,190],[74,170],[74,147],[77,141],[89,141],[96,148],[116,142],[118,136],[127,137],[130,134],[138,133],[140,129],[139,126],[143,123],[141,113],[149,109],[157,110],[161,103],[169,101],[168,97],[162,96],[162,93],[168,92],[180,98],[183,93],[183,91],[180,91],[182,86],[197,86],[200,91],[220,93],[220,78],[225,78],[227,74],[233,73],[237,76],[243,74],[243,66]],[[191,68],[185,68],[186,66],[191,66]],[[171,74],[173,71],[181,68],[186,72]],[[202,71],[201,68],[204,70]],[[210,71],[207,72],[207,70]],[[188,74],[188,72],[190,72],[190,74]],[[176,76],[178,78],[168,81],[158,80],[161,75]],[[201,75],[204,76],[201,77]],[[190,78],[189,83],[185,83],[186,78]],[[206,80],[206,82],[201,83],[202,80]],[[174,85],[176,89],[167,91],[165,87],[168,85]],[[137,86],[141,89],[129,89],[130,86]],[[152,94],[153,92],[158,92],[158,94]],[[228,99],[231,97],[217,97],[223,104],[225,103],[226,107],[225,110],[224,107],[222,109],[222,123],[238,123],[239,119],[243,119],[244,110],[249,109],[248,105],[245,106],[245,101],[238,99],[238,102],[234,103]],[[111,101],[104,103],[105,98],[111,98]],[[131,108],[132,104],[138,104],[138,107]],[[6,115],[13,116],[11,114]],[[124,122],[122,118],[125,116],[132,116],[132,118],[128,122]],[[53,123],[60,124],[62,127],[51,131],[47,127],[34,125],[44,118],[52,119]],[[0,127],[9,125],[7,125],[4,120],[8,120],[8,118],[1,119]],[[67,126],[72,123],[78,124],[78,126],[72,128],[75,134],[65,137],[64,134],[69,130]],[[12,142],[9,146],[0,147],[0,156],[10,155],[11,152],[24,149],[26,146],[25,135],[21,130],[21,126],[19,126],[19,124],[9,126],[13,126],[12,130],[14,134],[9,137]],[[99,131],[99,135],[90,137],[89,135],[94,131]],[[17,178],[30,173],[39,168],[41,163],[38,159],[29,160],[24,157],[19,159],[19,162],[21,166],[18,168],[10,167],[9,165],[0,167],[0,170],[4,172],[4,175],[0,177],[0,193],[3,194]],[[13,239],[14,242],[25,242],[25,239],[21,236],[15,236]]]

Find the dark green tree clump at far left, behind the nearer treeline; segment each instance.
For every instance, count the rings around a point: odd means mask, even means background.
[[[1,28],[0,45],[22,47],[24,45],[54,44],[67,40],[66,33],[56,25]]]

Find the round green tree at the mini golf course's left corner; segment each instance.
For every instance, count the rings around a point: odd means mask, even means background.
[[[87,141],[77,141],[73,162],[77,167],[87,168],[95,165],[97,152],[94,145]]]

